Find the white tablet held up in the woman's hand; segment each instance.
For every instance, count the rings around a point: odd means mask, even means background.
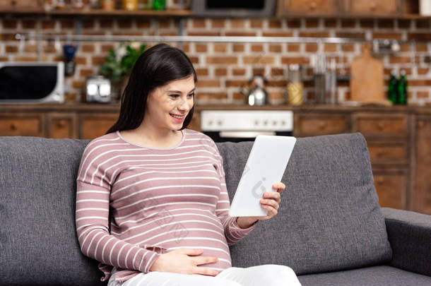
[[[231,217],[268,215],[260,199],[266,191],[276,191],[272,185],[281,181],[295,143],[292,136],[256,136],[230,205]]]

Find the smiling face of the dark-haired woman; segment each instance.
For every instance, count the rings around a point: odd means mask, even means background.
[[[148,95],[144,121],[164,129],[181,129],[194,105],[194,90],[193,76],[155,88]]]

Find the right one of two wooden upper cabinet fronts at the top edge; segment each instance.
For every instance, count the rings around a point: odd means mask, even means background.
[[[350,0],[349,6],[350,13],[358,14],[396,14],[401,11],[399,0]]]

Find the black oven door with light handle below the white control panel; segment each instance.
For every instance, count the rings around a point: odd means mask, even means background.
[[[258,135],[292,136],[292,131],[202,131],[214,142],[254,141]]]

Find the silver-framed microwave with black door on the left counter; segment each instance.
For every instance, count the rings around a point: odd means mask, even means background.
[[[0,62],[0,103],[64,103],[64,63]]]

